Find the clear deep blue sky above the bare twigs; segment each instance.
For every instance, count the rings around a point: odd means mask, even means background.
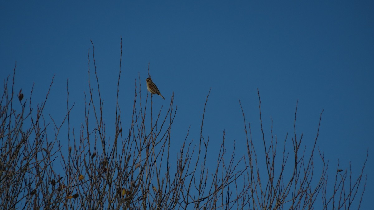
[[[114,99],[120,36],[122,111],[130,116],[138,74],[146,90],[150,62],[166,98],[154,100],[167,106],[175,94],[177,148],[190,125],[198,138],[210,88],[204,134],[213,142],[226,130],[227,141],[244,145],[239,99],[259,137],[257,89],[268,136],[270,117],[278,138],[293,132],[298,100],[298,133],[312,142],[324,109],[318,145],[331,168],[340,160],[343,169],[349,161],[360,169],[369,151],[362,208],[371,206],[373,1],[1,1],[0,28],[2,80],[17,61],[16,90],[30,91],[35,82],[34,101],[41,102],[55,74],[47,110],[57,119],[56,110],[66,110],[67,79],[74,111],[82,114],[90,40],[101,91]]]

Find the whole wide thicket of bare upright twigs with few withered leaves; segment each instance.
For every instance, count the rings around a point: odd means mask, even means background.
[[[228,152],[223,132],[213,170],[213,163],[207,158],[209,138],[202,135],[210,91],[203,109],[200,137],[196,142],[189,140],[187,132],[176,159],[170,156],[172,124],[177,113],[174,95],[168,107],[153,110],[153,99],[148,92],[147,97],[141,92],[139,77],[135,81],[130,126],[123,127],[118,102],[122,40],[116,114],[110,124],[114,129],[107,129],[94,46],[92,58],[94,75],[89,52],[89,92],[85,94],[85,120],[79,133],[70,126],[71,118],[76,119],[70,114],[74,104],[69,104],[68,86],[66,115],[56,123],[50,116],[45,118],[43,112],[50,87],[45,101],[34,108],[33,90],[30,96],[20,90],[14,97],[16,68],[11,89],[9,77],[4,80],[0,101],[3,209],[349,209],[353,201],[357,201],[358,207],[361,204],[366,160],[358,178],[352,177],[352,170],[340,171],[338,167],[333,183],[328,182],[328,161],[316,147],[319,125],[313,148],[303,148],[303,135],[296,132],[295,112],[293,136],[286,136],[279,146],[281,142],[274,138],[273,131],[271,139],[265,138],[260,100],[263,150],[255,148],[252,142],[251,127],[248,124],[247,130],[239,101],[247,154],[236,158],[235,149]],[[53,78],[50,86],[52,83]],[[58,136],[64,123],[67,141],[62,142]],[[292,145],[293,150],[289,151],[287,145]],[[258,161],[259,155],[264,155],[264,163]],[[316,164],[322,170],[316,171]],[[260,171],[260,167],[266,170]]]

